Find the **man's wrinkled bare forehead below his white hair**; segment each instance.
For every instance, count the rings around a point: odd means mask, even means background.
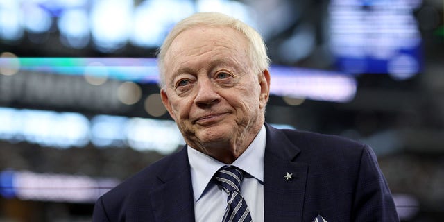
[[[248,53],[248,45],[244,34],[234,28],[196,26],[182,31],[173,40],[165,54],[165,65],[190,58],[212,58],[223,54],[243,57]]]

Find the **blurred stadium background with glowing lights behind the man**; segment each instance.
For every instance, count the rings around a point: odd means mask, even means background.
[[[370,144],[402,221],[444,218],[442,0],[0,0],[0,221],[90,221],[184,142],[155,52],[219,11],[268,45],[266,121]]]

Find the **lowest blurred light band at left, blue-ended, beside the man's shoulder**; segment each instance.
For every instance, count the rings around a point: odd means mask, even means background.
[[[94,203],[119,182],[115,178],[6,170],[0,171],[0,195],[20,200]]]

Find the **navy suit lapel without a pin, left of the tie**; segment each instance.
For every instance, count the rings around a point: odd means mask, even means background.
[[[151,192],[155,221],[194,221],[194,196],[187,149],[157,176],[161,185]]]

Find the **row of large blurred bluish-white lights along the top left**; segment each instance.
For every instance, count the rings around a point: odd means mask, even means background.
[[[214,10],[255,26],[252,12],[239,1],[0,0],[0,38],[19,40],[25,29],[49,33],[56,22],[62,44],[75,49],[82,49],[91,40],[96,49],[105,53],[121,49],[128,42],[156,48],[180,19],[194,12]]]

